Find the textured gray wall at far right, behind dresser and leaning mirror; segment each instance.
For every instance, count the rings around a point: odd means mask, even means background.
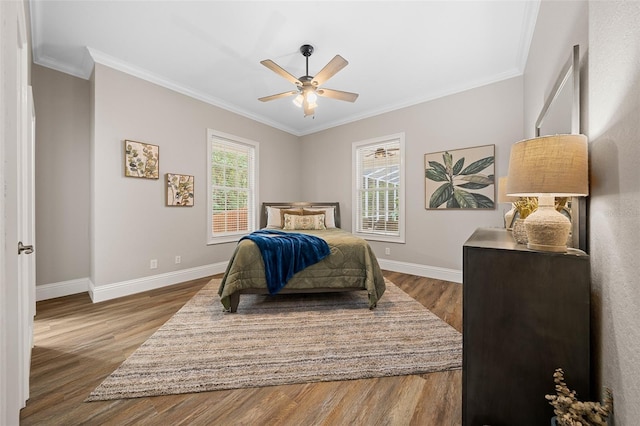
[[[638,22],[638,2],[542,2],[524,91],[524,132],[530,137],[571,46],[580,44],[582,132],[590,140],[594,392],[598,397],[603,386],[613,390],[618,425],[640,418]]]

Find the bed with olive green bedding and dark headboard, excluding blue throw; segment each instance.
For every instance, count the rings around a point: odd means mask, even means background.
[[[313,220],[317,224],[323,220],[326,229],[303,230],[295,226],[295,229],[287,229],[292,221],[302,220]],[[370,309],[376,307],[384,294],[384,277],[371,247],[364,239],[340,228],[339,203],[263,203],[260,227],[274,229],[276,232],[314,235],[322,238],[329,246],[328,256],[293,275],[278,294],[366,291]],[[242,294],[270,294],[263,258],[254,241],[239,241],[227,265],[218,294],[227,312],[237,311]]]

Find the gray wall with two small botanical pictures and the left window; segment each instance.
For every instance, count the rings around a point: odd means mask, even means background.
[[[261,198],[299,198],[298,138],[96,64],[93,75],[92,256],[96,287],[224,262],[235,243],[206,245],[207,128],[260,143]],[[160,147],[158,180],[124,177],[124,140]],[[195,206],[165,207],[165,173],[195,176]],[[182,263],[174,264],[180,255]],[[158,269],[150,270],[150,259]]]

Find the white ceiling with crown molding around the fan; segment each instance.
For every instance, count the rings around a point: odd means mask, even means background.
[[[521,75],[539,1],[31,0],[34,62],[88,78],[98,62],[294,135]],[[349,65],[303,117],[295,89],[260,64],[305,75],[339,54]]]

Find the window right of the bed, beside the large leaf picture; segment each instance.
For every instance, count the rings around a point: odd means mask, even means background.
[[[353,144],[353,233],[404,243],[404,133]]]

